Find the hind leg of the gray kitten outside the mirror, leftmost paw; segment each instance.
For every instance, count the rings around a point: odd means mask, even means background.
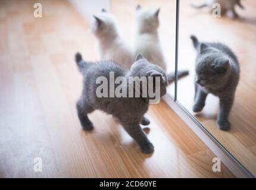
[[[77,115],[80,121],[80,124],[82,125],[83,129],[85,131],[90,131],[93,129],[93,124],[88,118],[88,113],[93,112],[93,107],[86,105],[82,102],[82,100],[78,100],[76,103],[76,109],[77,109]]]

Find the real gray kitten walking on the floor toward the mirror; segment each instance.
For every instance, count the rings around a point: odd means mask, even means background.
[[[160,80],[160,97],[166,94],[168,80],[166,73],[160,66],[154,65],[146,61],[141,54],[136,57],[135,63],[127,71],[123,67],[114,62],[100,61],[96,63],[85,62],[80,53],[76,54],[76,62],[80,72],[83,75],[83,92],[77,102],[77,113],[80,123],[85,130],[93,129],[93,124],[88,118],[88,113],[93,110],[102,110],[105,113],[113,115],[128,134],[139,144],[142,153],[152,153],[154,145],[148,140],[142,131],[142,125],[148,125],[149,120],[143,116],[149,107],[148,97],[101,97],[96,96],[96,88],[100,84],[96,84],[96,78],[106,77],[110,83],[110,72],[114,72],[114,78],[123,76],[127,78],[127,83],[122,84],[126,87],[129,85],[129,77],[161,77]],[[115,84],[114,88],[117,85]],[[108,87],[108,94],[110,87]]]

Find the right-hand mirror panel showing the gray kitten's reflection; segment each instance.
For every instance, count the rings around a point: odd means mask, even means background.
[[[204,2],[180,1],[177,101],[256,176],[256,4]]]

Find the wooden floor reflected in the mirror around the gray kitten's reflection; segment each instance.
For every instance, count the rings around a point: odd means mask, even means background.
[[[179,68],[189,68],[191,72],[189,77],[179,80],[177,99],[193,113],[196,53],[189,36],[195,34],[199,40],[222,42],[230,46],[241,65],[241,78],[230,113],[232,129],[220,131],[217,128],[216,118],[219,110],[217,97],[208,96],[205,108],[195,116],[239,162],[256,176],[256,1],[242,1],[245,9],[237,7],[242,17],[240,20],[213,18],[207,9],[192,9],[189,6],[192,1],[180,2]]]

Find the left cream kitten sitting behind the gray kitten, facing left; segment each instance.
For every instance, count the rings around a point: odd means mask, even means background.
[[[102,9],[102,12],[93,15],[92,33],[98,39],[97,49],[101,60],[114,61],[126,69],[130,69],[135,59],[135,53],[121,37],[113,15]]]

